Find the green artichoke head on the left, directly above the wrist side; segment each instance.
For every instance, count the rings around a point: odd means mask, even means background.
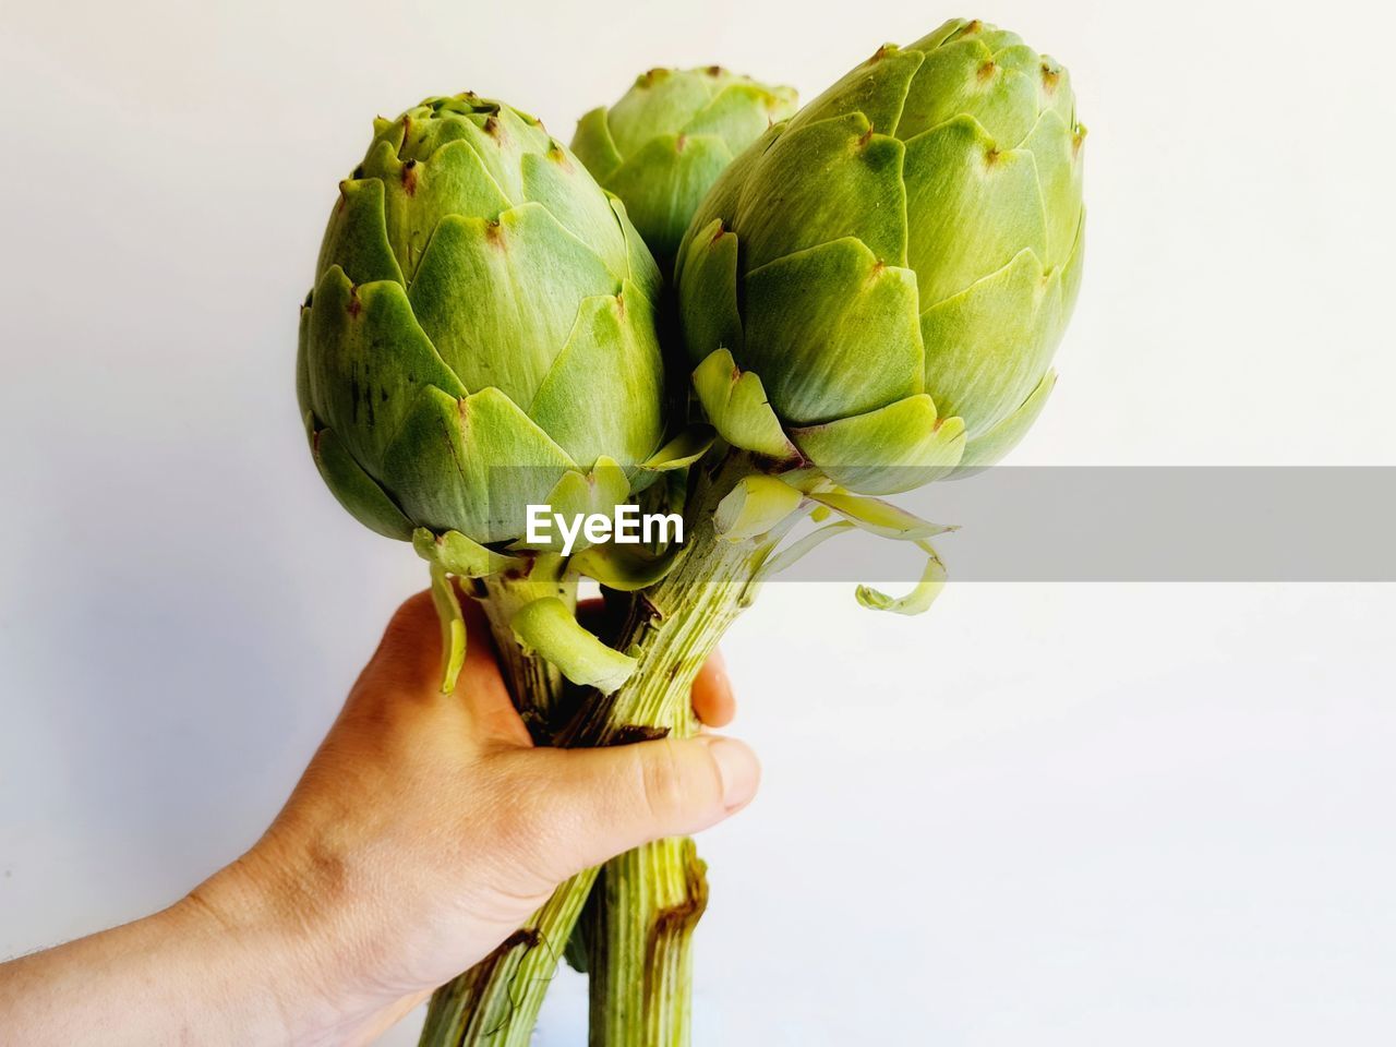
[[[659,289],[624,205],[535,117],[463,94],[374,121],[302,315],[321,475],[380,533],[517,542],[564,477],[660,445]]]

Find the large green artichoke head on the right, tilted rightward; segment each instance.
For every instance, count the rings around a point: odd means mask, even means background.
[[[718,431],[867,494],[1005,454],[1079,286],[1083,135],[1067,70],[979,21],[884,46],[772,127],[677,261]]]

